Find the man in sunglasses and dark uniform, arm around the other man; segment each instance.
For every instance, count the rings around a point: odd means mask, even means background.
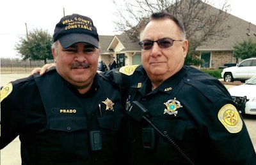
[[[142,65],[102,73],[122,89],[130,164],[256,164],[248,130],[225,86],[184,66],[188,40],[179,20],[153,13],[139,44]]]

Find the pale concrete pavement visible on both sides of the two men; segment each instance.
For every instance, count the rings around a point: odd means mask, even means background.
[[[29,74],[6,74],[1,75],[1,86],[6,85],[8,82],[16,80],[18,78],[24,78]],[[225,85],[225,87],[231,88],[234,85]],[[249,131],[250,137],[253,142],[253,146],[256,150],[256,116],[245,116],[244,122]],[[20,161],[20,141],[19,137],[15,138],[9,145],[7,145],[3,150],[1,150],[1,165],[16,165],[21,164]]]

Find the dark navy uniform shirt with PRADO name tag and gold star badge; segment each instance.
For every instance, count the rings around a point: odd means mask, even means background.
[[[27,165],[125,162],[123,117],[120,92],[105,78],[79,94],[54,69],[1,90],[1,148],[19,136]]]

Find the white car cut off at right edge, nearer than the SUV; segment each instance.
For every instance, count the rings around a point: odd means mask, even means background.
[[[234,102],[243,114],[256,115],[256,75],[242,85],[228,89]]]

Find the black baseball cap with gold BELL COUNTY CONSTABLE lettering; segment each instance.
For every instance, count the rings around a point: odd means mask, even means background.
[[[80,42],[99,48],[99,35],[92,19],[78,14],[61,18],[56,24],[53,40],[54,42],[59,40],[63,48]]]

